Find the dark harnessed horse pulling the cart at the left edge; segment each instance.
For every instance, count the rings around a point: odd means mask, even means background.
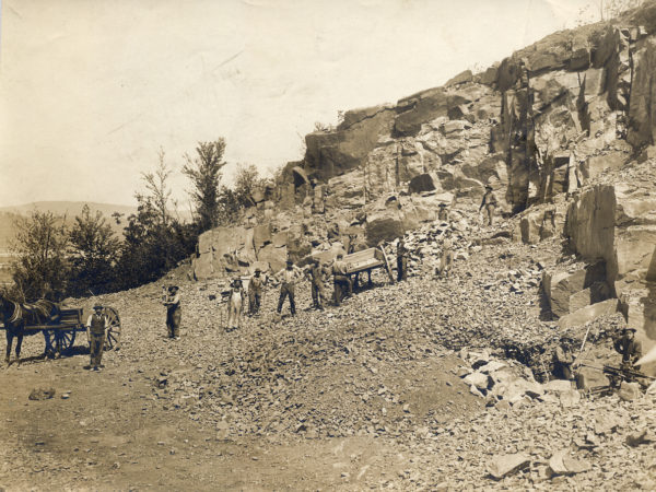
[[[4,333],[7,336],[7,355],[4,362],[9,365],[14,337],[16,338],[16,362],[20,364],[23,337],[37,332],[36,330],[26,330],[25,326],[49,325],[57,320],[60,309],[57,304],[45,298],[32,304],[21,304],[0,294],[0,314],[4,321]],[[45,330],[43,333],[46,338],[46,347],[49,347],[48,335]]]

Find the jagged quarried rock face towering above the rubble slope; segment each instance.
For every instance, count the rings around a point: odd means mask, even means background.
[[[652,1],[554,33],[481,73],[347,112],[337,128],[306,136],[303,161],[257,194],[239,224],[201,236],[194,274],[277,270],[288,257],[330,259],[350,243],[393,241],[434,221],[441,202],[471,214],[490,185],[516,241],[563,235],[567,253],[602,265],[602,278],[583,281],[546,273],[554,318],[617,297],[656,337],[654,78]],[[553,301],[559,289],[565,301]]]

